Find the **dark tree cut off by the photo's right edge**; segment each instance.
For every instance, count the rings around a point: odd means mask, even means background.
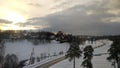
[[[108,49],[109,57],[107,60],[111,61],[114,60],[117,63],[117,66],[119,68],[119,62],[120,62],[120,41],[114,40],[111,47]]]

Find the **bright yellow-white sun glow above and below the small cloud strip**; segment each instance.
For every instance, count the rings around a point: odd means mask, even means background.
[[[3,12],[3,19],[11,21],[11,23],[0,23],[0,30],[29,30],[34,29],[30,27],[22,27],[17,25],[17,23],[26,23],[26,17],[20,13],[11,11],[11,10],[4,10]]]

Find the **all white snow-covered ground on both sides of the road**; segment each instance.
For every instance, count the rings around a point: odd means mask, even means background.
[[[96,46],[102,45],[103,42],[110,45],[107,40],[99,40],[99,41],[94,42],[93,44],[91,44],[89,41],[86,41],[85,44],[80,45],[80,47],[81,47],[81,49],[87,45],[92,45],[93,47],[96,47]],[[107,48],[109,48],[108,45],[103,46],[99,49],[96,49],[94,53],[96,54],[96,53],[106,52]],[[15,54],[15,55],[17,55],[19,61],[26,60],[26,59],[30,59],[33,48],[34,48],[34,57],[40,57],[41,53],[45,53],[46,55],[48,55],[48,54],[53,55],[55,53],[58,54],[61,51],[63,51],[65,53],[69,48],[69,44],[68,43],[59,43],[55,40],[53,40],[51,43],[45,43],[45,44],[39,44],[39,45],[33,45],[31,42],[29,42],[27,40],[6,42],[5,43],[5,55]],[[57,58],[57,57],[59,58],[60,56],[56,56],[55,58]],[[105,57],[105,58],[103,58],[103,57]],[[55,59],[55,58],[52,57],[52,59]],[[37,62],[30,66],[35,66],[35,65],[41,64],[43,62],[47,62],[47,60],[49,60],[49,59],[51,60],[51,57],[44,59],[41,62]],[[108,63],[105,60],[106,56],[101,56],[101,57],[96,56],[93,58],[93,65],[99,66],[100,65],[99,63],[103,62],[101,59],[103,59],[103,61],[105,61],[104,63]],[[101,61],[101,62],[96,62],[97,60]],[[81,62],[82,62],[82,58],[76,59],[76,68],[80,67]],[[95,64],[94,64],[94,62],[95,62]],[[103,63],[103,65],[105,65],[104,63]],[[51,68],[71,68],[71,67],[72,67],[72,62],[69,62],[68,60],[64,60],[58,64],[53,65]],[[108,68],[110,68],[110,67],[108,67]]]

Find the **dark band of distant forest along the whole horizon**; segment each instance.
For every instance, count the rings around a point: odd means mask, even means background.
[[[23,30],[6,30],[0,31],[0,40],[11,39],[11,40],[20,40],[20,39],[37,39],[37,40],[56,40],[63,42],[71,42],[72,38],[76,36],[82,41],[85,40],[99,40],[99,39],[109,39],[109,40],[120,40],[120,35],[103,35],[103,36],[91,36],[91,35],[72,35],[62,31],[58,32],[49,32],[49,31],[23,31]]]

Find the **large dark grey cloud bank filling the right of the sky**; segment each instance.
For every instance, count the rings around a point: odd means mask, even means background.
[[[39,22],[43,20],[48,22],[49,31],[65,31],[73,34],[120,34],[120,23],[103,21],[116,15],[107,12],[109,8],[105,7],[106,3],[93,3],[89,6],[76,5],[62,12],[54,13],[43,18],[32,18],[30,20]],[[86,12],[92,10],[89,15]],[[120,15],[120,14],[119,14]]]

